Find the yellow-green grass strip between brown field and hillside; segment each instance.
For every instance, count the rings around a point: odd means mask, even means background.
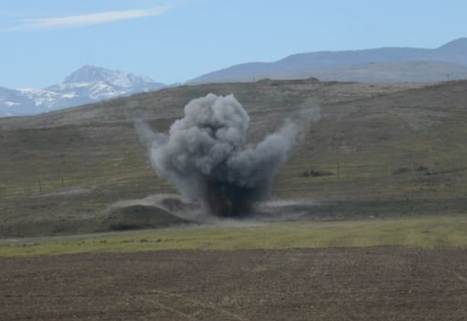
[[[231,224],[234,225],[234,222]],[[240,250],[341,247],[467,248],[467,216],[186,227],[30,239],[0,245],[0,257],[153,250]]]

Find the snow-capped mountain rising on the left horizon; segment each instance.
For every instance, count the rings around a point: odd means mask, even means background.
[[[40,114],[164,86],[146,76],[85,65],[43,90],[0,87],[0,116]]]

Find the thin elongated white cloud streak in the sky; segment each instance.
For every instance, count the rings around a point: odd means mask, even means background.
[[[91,13],[83,15],[69,15],[60,18],[31,19],[23,20],[20,25],[10,28],[10,31],[34,30],[34,29],[60,29],[71,27],[85,27],[100,23],[108,23],[122,20],[132,20],[145,17],[155,17],[164,14],[168,10],[167,7],[158,7],[152,9],[108,11],[100,13]]]

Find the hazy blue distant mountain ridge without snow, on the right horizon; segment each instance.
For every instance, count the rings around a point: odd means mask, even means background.
[[[405,64],[396,64],[404,62]],[[380,74],[375,74],[376,69],[373,70],[370,77],[359,75],[356,72],[355,76],[350,76],[347,72],[350,66],[356,69],[363,68],[369,70],[369,64],[378,64],[380,66],[396,66],[397,69],[411,68],[411,64],[406,62],[436,62],[433,64],[433,70],[429,68],[430,64],[425,64],[425,70],[427,75],[424,76],[421,74],[418,79],[422,81],[443,81],[446,80],[446,74],[453,72],[461,74],[465,70],[464,66],[467,66],[467,38],[461,38],[455,41],[452,41],[445,45],[442,45],[437,49],[416,49],[416,48],[381,48],[381,49],[369,49],[369,50],[354,50],[354,51],[322,51],[322,52],[311,52],[311,53],[300,53],[290,55],[277,62],[252,62],[234,65],[224,70],[215,71],[205,75],[201,75],[197,79],[189,81],[188,83],[209,83],[209,82],[251,82],[259,79],[283,79],[287,75],[287,79],[301,79],[309,76],[320,77],[319,74],[314,73],[320,71],[320,73],[325,73],[328,76],[333,74],[335,77],[329,77],[328,80],[340,80],[341,75],[338,71],[338,68],[344,68],[346,72],[347,80],[354,81],[411,81],[409,79],[397,76],[395,79],[385,77],[384,74],[387,70],[384,70]],[[440,70],[440,62],[448,62],[452,64],[446,64],[446,71]],[[366,65],[366,66],[365,66]],[[416,64],[412,66],[419,68]],[[328,69],[332,69],[328,72]],[[407,73],[419,73],[414,70],[411,72],[406,70]],[[439,74],[439,76],[434,77],[434,74]]]

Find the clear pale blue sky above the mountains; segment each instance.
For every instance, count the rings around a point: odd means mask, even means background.
[[[0,86],[83,65],[173,84],[322,50],[437,48],[467,37],[466,0],[0,0]]]

